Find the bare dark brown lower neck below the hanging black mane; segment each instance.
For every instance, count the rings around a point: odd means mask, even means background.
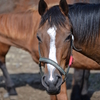
[[[85,43],[80,44],[79,42],[74,41],[74,45],[77,49],[79,49],[81,54],[100,64],[100,36],[98,36],[94,43],[89,43],[86,45]]]

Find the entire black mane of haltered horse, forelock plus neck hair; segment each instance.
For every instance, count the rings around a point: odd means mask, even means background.
[[[100,4],[76,3],[69,5],[68,13],[75,40],[80,44],[94,43],[100,32]],[[66,17],[59,6],[50,8],[41,18],[40,26],[46,20],[50,26],[65,26]]]

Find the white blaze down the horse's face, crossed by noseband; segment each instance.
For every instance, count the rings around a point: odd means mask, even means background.
[[[56,30],[57,30],[57,28],[55,26],[54,27],[50,27],[47,30],[47,33],[50,36],[49,59],[51,59],[51,60],[53,60],[53,61],[55,61],[57,63],[57,59],[56,59],[56,46],[55,46]],[[49,71],[49,74],[50,74],[49,80],[52,81],[54,79],[53,78],[53,73],[55,71],[55,67],[50,65],[50,64],[47,64],[47,68],[48,68],[48,71]]]

